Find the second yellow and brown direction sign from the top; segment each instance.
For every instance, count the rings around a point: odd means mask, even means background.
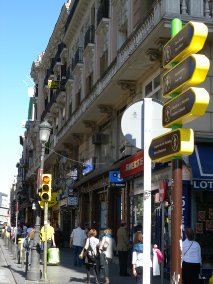
[[[209,71],[210,61],[203,54],[190,54],[183,61],[169,70],[162,78],[162,96],[165,98],[171,93],[182,92],[189,85],[197,86],[202,83]]]

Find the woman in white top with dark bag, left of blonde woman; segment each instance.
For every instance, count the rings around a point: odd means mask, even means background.
[[[87,239],[85,250],[88,250],[88,254],[85,260],[87,269],[87,281],[85,283],[90,283],[90,268],[92,267],[93,274],[96,280],[96,284],[99,284],[98,275],[96,271],[97,264],[97,248],[99,239],[96,238],[97,232],[95,229],[90,230],[90,237]],[[91,251],[92,250],[92,251]]]

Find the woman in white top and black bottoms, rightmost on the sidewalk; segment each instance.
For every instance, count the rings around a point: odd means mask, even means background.
[[[201,273],[201,247],[194,241],[192,228],[185,230],[186,240],[182,243],[182,278],[184,284],[199,284]]]

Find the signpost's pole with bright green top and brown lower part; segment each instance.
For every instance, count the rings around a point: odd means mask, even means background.
[[[172,21],[172,37],[181,30],[182,25],[179,19]],[[174,67],[177,63],[172,63]],[[173,93],[176,97],[179,93]],[[172,130],[182,128],[182,125],[172,125]],[[172,178],[174,188],[172,189],[172,216],[171,216],[171,284],[182,283],[182,157],[172,157]]]

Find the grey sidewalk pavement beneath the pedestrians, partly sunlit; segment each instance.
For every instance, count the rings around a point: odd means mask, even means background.
[[[21,264],[17,264],[8,252],[4,241],[0,239],[0,284],[37,284],[39,281],[26,280],[25,266],[21,269]],[[43,265],[40,265],[40,270],[43,273]],[[110,266],[110,284],[134,284],[135,277],[132,275],[132,270],[128,269],[130,277],[119,276],[119,266],[112,263]],[[73,284],[85,283],[87,274],[85,266],[75,267],[73,263],[73,251],[70,248],[62,248],[60,250],[60,266],[47,266],[47,275],[50,279],[50,284],[60,283]],[[98,276],[99,273],[98,273]],[[91,284],[95,284],[95,279],[91,269]],[[104,284],[105,279],[99,277],[99,283]],[[169,284],[170,281],[164,280],[163,284]],[[153,284],[161,284],[160,277],[153,277]]]

